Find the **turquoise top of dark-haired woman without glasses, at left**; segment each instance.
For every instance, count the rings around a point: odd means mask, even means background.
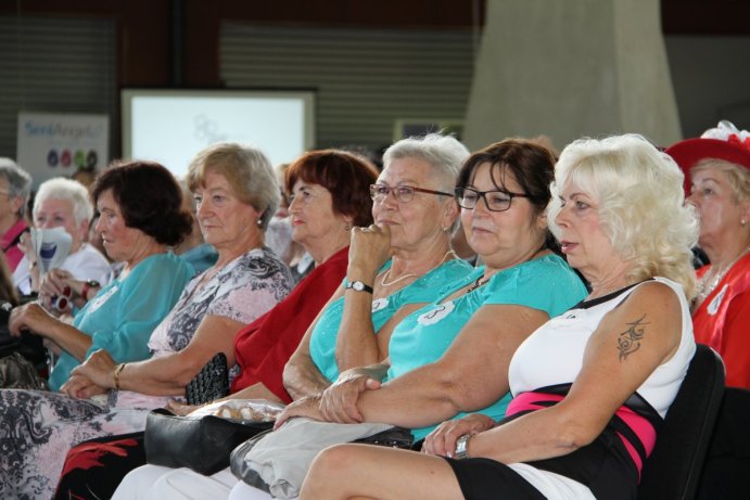
[[[147,257],[124,279],[104,286],[76,315],[73,325],[91,337],[86,357],[105,349],[117,362],[151,356],[149,337],[177,303],[193,277],[192,267],[171,253]],[[50,388],[60,390],[80,362],[63,352],[50,374]]]

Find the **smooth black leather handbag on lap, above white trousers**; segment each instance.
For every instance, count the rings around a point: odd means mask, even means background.
[[[152,410],[145,421],[145,461],[215,474],[229,466],[229,454],[237,446],[272,426],[274,422],[240,423],[214,415],[178,416],[169,410]]]

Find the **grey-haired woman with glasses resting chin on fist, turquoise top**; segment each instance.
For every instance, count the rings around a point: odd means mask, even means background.
[[[284,368],[294,399],[322,392],[340,371],[382,361],[392,325],[471,271],[450,249],[458,206],[449,193],[468,155],[456,139],[438,134],[404,139],[385,151],[370,189],[376,225],[352,230],[349,280]]]

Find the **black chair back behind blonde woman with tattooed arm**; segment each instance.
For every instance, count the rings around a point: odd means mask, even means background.
[[[690,500],[711,443],[724,395],[724,363],[698,344],[653,452],[641,471],[639,500]]]

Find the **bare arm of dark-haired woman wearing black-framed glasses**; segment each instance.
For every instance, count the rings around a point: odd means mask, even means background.
[[[418,428],[490,406],[508,392],[513,352],[547,319],[546,312],[523,306],[482,306],[437,361],[378,390],[364,390],[357,401],[363,419]],[[296,411],[285,411],[284,418],[323,419],[319,400]]]

